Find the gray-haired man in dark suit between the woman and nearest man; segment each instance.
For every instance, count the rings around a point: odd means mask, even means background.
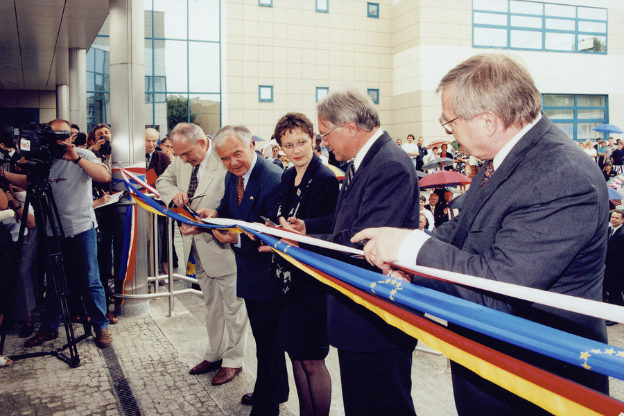
[[[336,89],[319,101],[318,129],[336,159],[348,161],[333,233],[349,240],[365,227],[418,227],[419,192],[414,164],[387,132],[370,96]],[[302,231],[302,230],[299,230]],[[415,415],[411,364],[415,340],[363,306],[332,293],[327,298],[329,343],[338,348],[346,415]]]

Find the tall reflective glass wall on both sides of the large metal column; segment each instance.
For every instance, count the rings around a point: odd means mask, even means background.
[[[219,0],[145,0],[145,125],[220,128]],[[87,52],[87,128],[110,123],[107,22]]]

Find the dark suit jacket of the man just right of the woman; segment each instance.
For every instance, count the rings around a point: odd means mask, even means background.
[[[366,153],[347,191],[341,189],[333,234],[321,238],[355,247],[351,237],[362,229],[417,228],[419,216],[418,178],[414,164],[384,132]],[[362,261],[359,266],[368,264]],[[329,343],[334,347],[379,352],[395,349],[397,343],[413,343],[412,338],[390,327],[363,306],[338,295],[328,296],[327,309]]]

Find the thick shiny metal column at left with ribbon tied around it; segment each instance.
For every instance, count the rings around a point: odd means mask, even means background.
[[[112,167],[145,164],[144,1],[110,0],[110,108]],[[138,211],[138,238],[132,294],[148,293],[147,234],[150,215]],[[130,265],[132,266],[132,265]],[[126,292],[128,287],[126,286]],[[116,311],[136,315],[149,310],[146,300],[126,300]]]

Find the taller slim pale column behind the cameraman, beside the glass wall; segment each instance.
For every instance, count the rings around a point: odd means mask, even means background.
[[[69,122],[87,130],[87,50],[69,49]]]

